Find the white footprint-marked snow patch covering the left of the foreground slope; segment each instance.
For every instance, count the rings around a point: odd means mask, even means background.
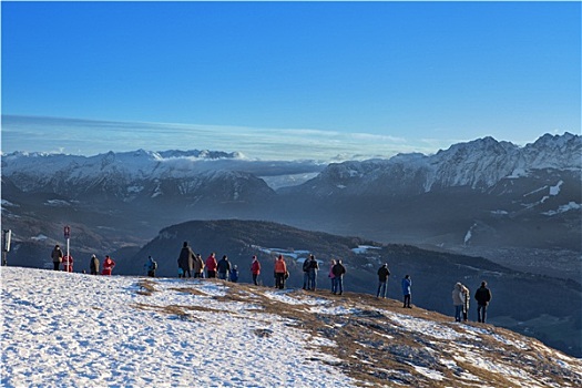
[[[0,275],[3,387],[355,386],[321,361],[323,338],[252,300],[214,299],[225,293],[217,284],[155,279],[157,292],[142,295],[133,277]]]

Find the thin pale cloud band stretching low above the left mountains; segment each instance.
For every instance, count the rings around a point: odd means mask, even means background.
[[[261,129],[233,125],[112,122],[59,118],[2,116],[2,152],[50,152],[95,155],[143,149],[239,152],[251,160],[391,157],[398,153],[435,152],[427,142],[368,133],[310,129]]]

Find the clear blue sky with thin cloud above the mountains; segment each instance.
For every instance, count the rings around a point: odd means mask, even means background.
[[[580,133],[580,2],[1,7],[2,152],[331,159]]]

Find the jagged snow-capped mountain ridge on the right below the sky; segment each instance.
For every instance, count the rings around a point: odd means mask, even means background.
[[[319,196],[417,195],[470,187],[486,191],[500,181],[535,170],[582,170],[582,139],[565,133],[544,135],[519,147],[492,137],[450,146],[435,155],[399,154],[389,160],[330,164],[317,177],[293,187]]]

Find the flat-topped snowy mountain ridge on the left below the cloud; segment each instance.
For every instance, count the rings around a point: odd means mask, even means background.
[[[159,196],[200,201],[205,195],[216,201],[246,201],[272,194],[264,181],[221,164],[232,160],[242,157],[207,151],[139,150],[91,157],[13,153],[2,157],[2,173],[22,192],[92,202]]]

